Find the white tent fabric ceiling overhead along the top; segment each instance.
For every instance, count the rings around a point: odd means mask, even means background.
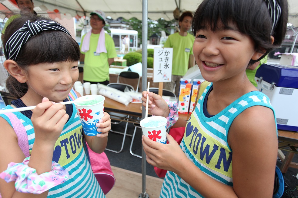
[[[2,4],[9,0],[0,0]],[[59,11],[61,14],[71,16],[88,16],[95,9],[100,9],[105,12],[106,16],[113,19],[123,17],[130,19],[136,17],[142,20],[142,0],[33,0],[35,7],[40,7],[41,10]],[[148,2],[148,18],[157,20],[164,18],[166,20],[173,19],[173,11],[177,5],[181,11],[194,12],[202,0],[149,0]],[[289,14],[298,17],[298,1],[288,0]],[[7,5],[7,3],[6,3]],[[5,5],[5,6],[6,6]]]

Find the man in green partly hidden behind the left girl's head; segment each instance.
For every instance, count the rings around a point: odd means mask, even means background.
[[[1,39],[3,40],[3,34],[5,32],[6,27],[16,18],[21,17],[22,13],[32,13],[37,15],[37,13],[33,10],[34,8],[34,3],[32,2],[32,0],[15,0],[15,2],[18,5],[18,8],[21,10],[20,14],[15,14],[12,15],[11,17],[9,17],[9,19],[6,21],[4,28],[2,30],[2,35],[1,35]]]

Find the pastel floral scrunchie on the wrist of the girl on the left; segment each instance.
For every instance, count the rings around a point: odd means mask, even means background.
[[[18,192],[41,194],[64,183],[69,177],[68,171],[54,161],[52,171],[38,175],[35,168],[28,166],[29,159],[25,158],[23,163],[9,163],[7,169],[0,173],[0,178],[7,183],[15,181],[15,190]]]

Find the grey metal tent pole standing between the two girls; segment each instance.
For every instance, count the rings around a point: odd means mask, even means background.
[[[147,38],[148,38],[148,0],[142,2],[142,91],[147,88]],[[145,107],[142,107],[142,119],[145,118]],[[149,198],[146,193],[146,154],[142,145],[142,193],[140,197]]]

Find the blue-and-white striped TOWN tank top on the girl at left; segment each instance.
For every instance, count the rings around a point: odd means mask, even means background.
[[[72,116],[65,124],[59,139],[55,143],[53,161],[58,162],[69,171],[69,178],[65,183],[53,187],[49,190],[48,198],[104,198],[99,184],[92,172],[91,165],[85,155],[82,143],[82,124],[73,105]],[[10,105],[5,109],[11,109]],[[15,115],[24,125],[31,153],[35,140],[35,133],[31,120],[20,112]],[[4,114],[0,115],[11,124],[9,118]]]

